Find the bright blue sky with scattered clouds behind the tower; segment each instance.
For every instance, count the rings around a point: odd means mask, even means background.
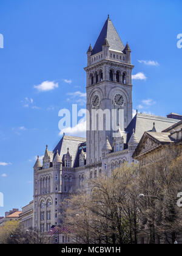
[[[59,110],[85,107],[86,52],[108,13],[132,49],[133,109],[182,114],[181,9],[181,0],[1,0],[0,216],[32,200],[35,156],[58,143]]]

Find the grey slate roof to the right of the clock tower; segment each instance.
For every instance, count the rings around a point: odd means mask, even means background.
[[[163,116],[149,115],[145,113],[136,113],[130,124],[126,128],[127,140],[128,143],[133,129],[135,130],[136,138],[141,139],[144,132],[152,130],[153,122],[155,122],[155,129],[157,132],[162,132],[164,129],[167,129],[169,126],[178,123],[177,119],[165,118]]]

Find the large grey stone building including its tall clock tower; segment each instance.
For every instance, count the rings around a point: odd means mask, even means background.
[[[64,135],[52,151],[46,146],[42,163],[39,157],[35,163],[35,229],[47,232],[53,224],[61,224],[61,202],[72,192],[86,190],[87,179],[101,172],[110,175],[125,161],[136,162],[132,155],[144,132],[161,132],[177,123],[175,118],[143,113],[132,118],[133,68],[129,44],[124,46],[108,17],[95,46],[90,45],[87,51],[86,138]],[[98,127],[99,111],[103,113],[103,129]],[[55,241],[69,243],[69,238],[56,235]]]

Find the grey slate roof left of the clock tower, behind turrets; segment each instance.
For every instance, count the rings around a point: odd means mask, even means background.
[[[64,161],[64,155],[67,154],[67,148],[69,148],[69,153],[72,156],[72,167],[75,162],[76,152],[78,149],[78,145],[80,143],[83,143],[86,141],[86,138],[80,138],[80,137],[72,137],[64,135],[59,143],[57,144],[56,148],[53,150],[54,157],[58,154],[61,157],[62,162]]]

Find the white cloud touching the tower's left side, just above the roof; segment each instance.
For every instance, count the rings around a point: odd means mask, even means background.
[[[74,127],[67,127],[65,129],[62,129],[59,135],[62,136],[63,133],[66,133],[72,136],[86,137],[86,127],[86,121],[81,121]]]

